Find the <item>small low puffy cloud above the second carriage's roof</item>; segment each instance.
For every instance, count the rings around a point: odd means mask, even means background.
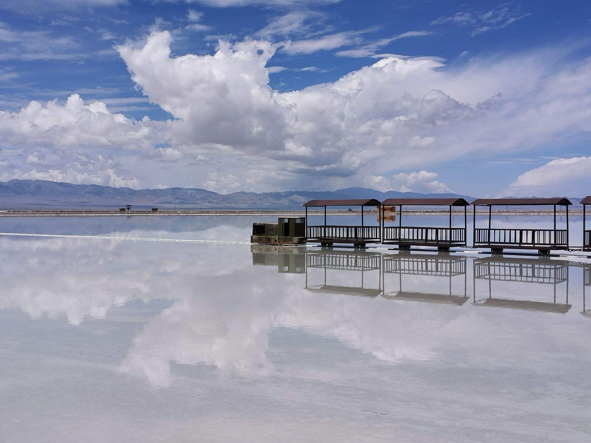
[[[394,174],[391,179],[381,175],[370,175],[365,183],[378,191],[401,191],[418,193],[453,193],[445,183],[441,183],[437,178],[436,172],[418,171],[406,174],[400,172]]]

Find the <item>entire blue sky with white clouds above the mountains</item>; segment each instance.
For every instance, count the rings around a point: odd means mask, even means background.
[[[588,1],[0,1],[0,181],[582,197],[590,172]]]

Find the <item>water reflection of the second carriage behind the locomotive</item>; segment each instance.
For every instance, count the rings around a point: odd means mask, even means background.
[[[384,256],[384,265],[382,269],[384,274],[398,274],[399,276],[398,291],[394,294],[387,294],[385,291],[385,275],[382,277],[382,280],[384,280],[384,297],[435,303],[453,303],[456,305],[462,305],[468,299],[466,294],[465,257],[457,257],[449,254],[423,255],[398,253],[395,255]],[[448,294],[440,294],[427,291],[404,291],[402,289],[402,275],[447,277],[449,282],[449,292]],[[464,276],[463,295],[454,295],[452,292],[452,279],[453,277],[462,275]]]

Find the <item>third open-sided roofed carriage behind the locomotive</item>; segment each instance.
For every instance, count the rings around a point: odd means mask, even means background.
[[[537,249],[547,255],[551,250],[569,249],[569,205],[568,198],[478,198],[472,202],[474,207],[475,247],[490,247],[493,253],[502,253],[505,247],[510,249]],[[476,227],[476,206],[488,206],[488,228]],[[493,206],[553,206],[553,229],[498,229],[491,227]],[[566,207],[566,229],[556,227],[556,207]]]

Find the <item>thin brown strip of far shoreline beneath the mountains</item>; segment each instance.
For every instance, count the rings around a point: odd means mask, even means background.
[[[327,211],[327,215],[355,215],[360,216],[361,211]],[[404,211],[404,215],[437,215],[437,216],[449,216],[449,211]],[[462,212],[453,212],[454,216],[462,216]],[[466,213],[469,217],[473,216],[472,211]],[[486,215],[488,211],[476,211],[476,214]],[[532,210],[499,210],[494,211],[493,215],[524,215],[524,216],[552,216],[553,210],[548,211],[532,211]],[[85,217],[145,217],[145,216],[275,216],[275,217],[304,217],[306,213],[304,211],[281,211],[281,210],[206,210],[206,211],[76,211],[76,210],[63,210],[63,211],[44,211],[44,210],[0,210],[0,217],[72,217],[72,216],[85,216]],[[322,216],[323,211],[309,211],[309,216]],[[363,211],[364,216],[377,216],[376,211]],[[557,213],[557,216],[564,216],[565,213]],[[583,215],[583,210],[570,210],[569,215]],[[387,218],[392,216],[398,216],[398,213],[386,213]]]

